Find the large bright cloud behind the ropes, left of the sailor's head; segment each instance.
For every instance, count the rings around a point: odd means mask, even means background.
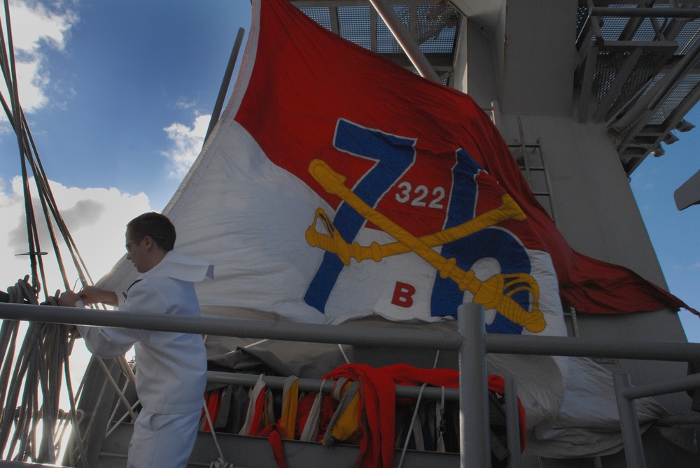
[[[30,180],[30,185],[34,186],[33,179]],[[51,182],[50,185],[73,241],[93,281],[97,281],[124,255],[125,226],[132,218],[150,211],[148,197],[144,193],[121,193],[116,188],[80,189],[64,187],[55,182]],[[41,250],[48,252],[48,255],[43,255],[42,258],[47,271],[48,292],[53,295],[57,289],[64,290],[64,285],[55,250],[43,222],[41,205],[36,197],[33,204],[37,224],[40,225],[38,229]],[[0,288],[6,290],[14,285],[18,278],[31,272],[29,257],[15,257],[15,254],[26,253],[29,250],[22,180],[19,177],[13,178],[11,187],[0,180],[0,219],[3,220],[0,223],[0,262],[3,265],[0,269]],[[63,241],[59,241],[59,250],[72,288],[78,279],[77,271]],[[43,294],[40,299],[43,300]]]

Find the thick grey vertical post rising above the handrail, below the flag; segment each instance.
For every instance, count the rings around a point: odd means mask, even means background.
[[[459,348],[459,464],[461,468],[491,468],[484,306],[462,304],[457,320],[463,338]]]

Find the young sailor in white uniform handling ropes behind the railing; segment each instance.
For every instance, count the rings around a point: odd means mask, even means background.
[[[214,266],[172,250],[175,229],[160,213],[145,213],[127,225],[127,258],[139,277],[125,292],[86,287],[59,297],[59,305],[118,305],[120,312],[200,315],[195,282],[214,279]],[[87,348],[100,357],[136,352],[141,412],[134,424],[127,467],[187,466],[195,444],[207,385],[207,352],[198,334],[78,327]]]

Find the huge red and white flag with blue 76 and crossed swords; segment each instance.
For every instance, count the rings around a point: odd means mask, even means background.
[[[488,332],[561,336],[560,290],[580,311],[685,306],[573,252],[470,97],[285,0],[253,2],[232,98],[164,213],[176,248],[215,264],[217,281],[197,285],[208,315],[444,325],[473,301]],[[126,288],[135,275],[122,262],[102,285]],[[518,376],[528,425],[552,420],[566,360],[497,355],[489,365]],[[663,413],[642,406],[640,418]],[[547,439],[589,424],[562,414]]]

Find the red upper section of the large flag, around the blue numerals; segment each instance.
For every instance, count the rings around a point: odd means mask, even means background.
[[[255,66],[236,120],[274,164],[295,174],[331,206],[337,207],[340,199],[311,178],[311,159],[323,159],[342,173],[348,187],[372,167],[370,160],[334,148],[339,118],[416,140],[414,164],[377,204],[381,213],[390,213],[416,236],[442,229],[447,200],[430,208],[429,203],[411,203],[410,197],[422,193],[415,192],[418,186],[426,187],[426,197],[437,187],[449,194],[454,155],[462,148],[526,213],[524,222],[502,225],[528,248],[551,255],[561,297],[577,310],[623,313],[684,307],[697,314],[633,271],[573,251],[535,200],[497,129],[466,94],[344,41],[284,0],[262,1],[259,34]],[[402,187],[407,187],[403,182],[411,187],[408,202],[401,201]],[[477,211],[488,208],[477,206]]]

